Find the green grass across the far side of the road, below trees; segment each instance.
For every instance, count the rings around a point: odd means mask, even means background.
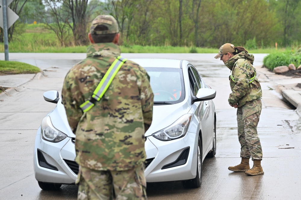
[[[25,32],[13,42],[9,42],[10,53],[85,53],[87,46],[62,47],[57,36],[44,28],[43,24],[27,24]],[[71,37],[71,35],[69,36]],[[69,42],[71,43],[71,42]],[[140,46],[121,45],[123,53],[217,53],[217,48],[172,47],[172,46]],[[251,54],[275,53],[290,51],[286,48],[248,49]],[[4,44],[0,43],[0,52],[4,52]]]

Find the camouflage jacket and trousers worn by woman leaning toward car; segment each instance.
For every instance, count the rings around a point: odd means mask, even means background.
[[[232,93],[228,102],[231,105],[238,104],[237,108],[237,132],[241,146],[240,157],[262,160],[262,147],[257,134],[257,125],[262,110],[262,89],[255,77],[252,66],[254,56],[245,51],[231,57],[225,65],[231,70],[234,81],[229,77]]]

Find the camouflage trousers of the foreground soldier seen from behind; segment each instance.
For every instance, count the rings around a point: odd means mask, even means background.
[[[144,166],[126,171],[97,171],[79,167],[78,200],[145,200]]]

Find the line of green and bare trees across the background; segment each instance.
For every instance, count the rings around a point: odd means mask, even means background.
[[[301,42],[301,0],[14,0],[9,7],[20,16],[8,29],[9,41],[35,20],[62,46],[87,45],[92,19],[111,14],[123,45],[265,48]]]

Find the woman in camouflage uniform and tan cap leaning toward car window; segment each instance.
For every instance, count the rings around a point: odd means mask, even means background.
[[[237,132],[242,159],[239,165],[228,169],[252,176],[264,174],[261,166],[262,148],[257,134],[262,110],[262,90],[256,69],[252,66],[254,56],[248,54],[243,47],[226,43],[219,48],[219,54],[215,58],[221,58],[231,70],[229,81],[232,93],[228,102],[230,106],[237,108]],[[250,157],[254,163],[252,169],[249,165]]]

